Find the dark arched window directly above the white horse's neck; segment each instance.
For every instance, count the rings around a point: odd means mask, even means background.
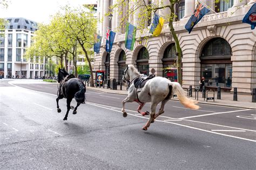
[[[149,52],[145,47],[139,50],[136,63],[140,73],[149,75]]]

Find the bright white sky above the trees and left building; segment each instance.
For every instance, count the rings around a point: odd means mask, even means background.
[[[0,17],[23,17],[39,23],[49,23],[50,16],[59,11],[60,6],[80,6],[97,3],[96,0],[9,0],[7,9],[0,8]]]

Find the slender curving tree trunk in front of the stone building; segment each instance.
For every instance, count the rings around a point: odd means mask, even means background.
[[[174,42],[175,42],[175,46],[176,46],[176,52],[177,52],[177,77],[178,77],[178,83],[182,85],[182,74],[181,74],[181,58],[182,58],[182,51],[181,51],[181,48],[180,48],[180,45],[179,45],[179,39],[176,35],[176,32],[174,31],[174,28],[173,28],[173,19],[174,19],[174,4],[175,4],[176,1],[172,1],[170,0],[170,3],[171,3],[171,17],[169,19],[169,28],[170,28],[170,31],[172,33],[172,37],[174,39]]]

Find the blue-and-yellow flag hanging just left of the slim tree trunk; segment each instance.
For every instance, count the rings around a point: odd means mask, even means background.
[[[153,36],[159,36],[161,33],[161,30],[164,25],[164,18],[157,15],[157,13],[154,14],[153,17],[153,23],[150,28],[150,33],[153,34]]]

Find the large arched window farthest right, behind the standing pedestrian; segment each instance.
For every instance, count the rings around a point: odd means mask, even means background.
[[[206,86],[232,86],[231,55],[231,46],[223,38],[213,38],[204,45],[200,59]]]

